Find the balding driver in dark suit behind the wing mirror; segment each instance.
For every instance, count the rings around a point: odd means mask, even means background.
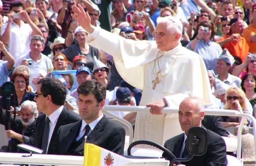
[[[186,149],[186,135],[192,126],[202,126],[204,119],[204,104],[198,97],[187,97],[179,107],[179,122],[181,129],[185,132],[167,140],[164,147],[169,149],[177,158],[188,158],[190,155]],[[204,126],[202,126],[204,127]],[[226,144],[223,138],[207,129],[207,152],[201,156],[194,156],[187,162],[181,162],[173,166],[226,166]],[[173,158],[163,152],[163,157],[168,160]]]

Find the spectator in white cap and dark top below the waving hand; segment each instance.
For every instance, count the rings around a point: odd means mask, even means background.
[[[73,62],[76,55],[84,55],[87,58],[87,67],[93,71],[95,57],[98,59],[101,53],[98,49],[86,43],[87,32],[81,26],[76,28],[75,37],[78,43],[69,46],[67,49],[61,51],[61,53],[65,54],[70,62]]]

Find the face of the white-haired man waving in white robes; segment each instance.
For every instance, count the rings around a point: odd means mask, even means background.
[[[154,31],[154,38],[157,42],[157,48],[161,51],[169,51],[175,48],[179,43],[181,34],[167,29],[167,23],[158,23]]]

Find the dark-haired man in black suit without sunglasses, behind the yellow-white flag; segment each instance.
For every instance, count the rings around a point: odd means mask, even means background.
[[[84,137],[87,137],[86,143],[123,155],[125,130],[101,112],[105,104],[106,87],[97,80],[87,80],[78,87],[77,92],[82,120],[60,127],[58,154],[84,155]]]

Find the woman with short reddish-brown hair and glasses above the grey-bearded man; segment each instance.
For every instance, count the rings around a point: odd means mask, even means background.
[[[35,93],[28,91],[29,75],[23,74],[21,72],[15,72],[12,74],[11,81],[12,83],[14,83],[15,93],[14,95],[11,96],[10,106],[15,108],[15,107],[19,107],[26,100],[34,101]],[[2,108],[6,109],[5,96],[1,98],[1,102],[2,102]]]

